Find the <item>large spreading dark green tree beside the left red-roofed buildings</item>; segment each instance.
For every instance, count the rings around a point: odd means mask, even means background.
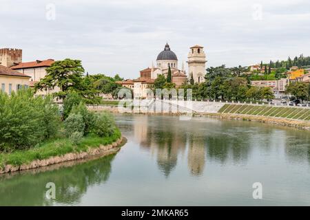
[[[56,92],[57,98],[65,98],[69,90],[83,90],[81,88],[84,68],[81,61],[66,58],[63,61],[56,61],[46,68],[46,76],[35,85],[35,90],[54,89],[59,87],[61,91]]]

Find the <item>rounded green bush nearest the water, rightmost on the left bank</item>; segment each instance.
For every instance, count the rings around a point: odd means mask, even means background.
[[[96,122],[94,122],[94,127],[92,132],[99,137],[110,137],[116,131],[116,125],[114,118],[110,113],[100,113],[96,115]]]

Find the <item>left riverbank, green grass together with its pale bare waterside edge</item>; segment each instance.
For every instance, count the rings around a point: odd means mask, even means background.
[[[105,156],[116,153],[127,140],[117,131],[110,137],[90,135],[74,146],[63,138],[41,144],[35,148],[0,154],[0,174],[29,170],[62,162]]]

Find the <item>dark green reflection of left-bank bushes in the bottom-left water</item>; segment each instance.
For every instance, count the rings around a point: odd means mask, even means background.
[[[75,166],[59,168],[42,173],[23,173],[0,181],[0,206],[49,206],[52,200],[45,198],[53,182],[56,185],[56,202],[79,203],[89,186],[107,181],[111,162],[115,155],[95,159]]]

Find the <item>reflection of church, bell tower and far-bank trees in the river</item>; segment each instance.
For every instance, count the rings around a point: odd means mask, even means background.
[[[122,118],[123,119],[123,118]],[[189,173],[203,175],[207,160],[245,166],[254,153],[269,154],[285,149],[289,159],[310,161],[310,133],[258,122],[221,121],[178,117],[130,116],[130,126],[118,121],[132,139],[156,157],[159,170],[168,177],[180,155],[187,157]],[[300,139],[299,139],[300,138]],[[300,140],[300,141],[298,141]]]

